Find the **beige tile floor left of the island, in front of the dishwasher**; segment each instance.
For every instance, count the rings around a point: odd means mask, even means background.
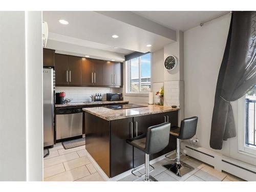
[[[44,158],[44,181],[103,181],[84,146],[65,150],[57,143],[49,151]]]

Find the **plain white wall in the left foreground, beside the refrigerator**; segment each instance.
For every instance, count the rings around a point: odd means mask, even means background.
[[[0,181],[42,180],[40,12],[0,12]]]

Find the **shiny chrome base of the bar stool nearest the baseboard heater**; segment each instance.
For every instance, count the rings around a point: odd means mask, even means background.
[[[173,172],[175,175],[179,177],[182,177],[195,169],[194,167],[191,167],[190,165],[183,162],[180,162],[180,163],[175,162],[172,164],[165,164],[163,166],[167,168],[170,172]]]

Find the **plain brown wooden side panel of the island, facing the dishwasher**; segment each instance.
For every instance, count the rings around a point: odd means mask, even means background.
[[[110,121],[85,112],[86,150],[102,168],[110,175]]]

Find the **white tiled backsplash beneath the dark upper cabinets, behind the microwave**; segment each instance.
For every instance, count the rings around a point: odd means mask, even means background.
[[[106,100],[106,93],[122,93],[123,88],[95,88],[95,87],[56,87],[55,92],[65,92],[71,102],[91,101],[90,96],[101,93],[102,100]]]

